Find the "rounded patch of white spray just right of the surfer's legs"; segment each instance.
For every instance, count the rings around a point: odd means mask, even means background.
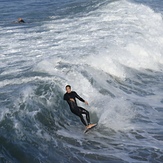
[[[124,98],[107,99],[106,97],[97,100],[93,107],[99,117],[98,124],[111,128],[115,131],[130,130],[134,128],[131,123],[135,118],[132,105]]]

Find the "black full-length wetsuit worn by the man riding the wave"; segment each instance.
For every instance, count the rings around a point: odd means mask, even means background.
[[[70,98],[74,99],[75,102],[71,101]],[[79,99],[80,101],[82,102],[85,102],[76,92],[74,91],[71,91],[70,93],[65,93],[64,94],[64,100],[67,101],[67,103],[69,104],[70,106],[70,109],[71,109],[71,112],[74,113],[75,115],[79,116],[82,123],[87,126],[89,123],[90,123],[90,117],[89,117],[89,112],[87,110],[85,110],[84,108],[82,107],[79,107],[77,105],[77,102],[76,102],[76,98]],[[85,114],[86,115],[86,120],[87,120],[87,123],[86,121],[84,120],[83,118],[83,115],[82,114]]]

